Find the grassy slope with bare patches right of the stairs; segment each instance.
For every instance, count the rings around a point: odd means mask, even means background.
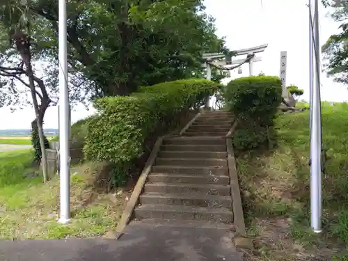
[[[247,260],[348,260],[348,104],[322,107],[331,159],[323,175],[320,235],[310,229],[308,117],[308,111],[279,116],[273,151],[237,153],[248,233],[258,248]]]

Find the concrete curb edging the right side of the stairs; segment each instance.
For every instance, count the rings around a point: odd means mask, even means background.
[[[237,127],[236,123],[233,124],[231,130]],[[230,135],[232,135],[232,132]],[[230,174],[230,186],[232,195],[232,209],[233,209],[233,223],[236,227],[236,235],[233,239],[237,248],[253,249],[253,240],[246,237],[246,227],[244,221],[244,212],[242,206],[242,198],[240,195],[240,188],[238,182],[237,166],[235,161],[235,154],[232,147],[232,139],[226,135],[226,146],[227,146],[227,159],[228,159],[228,173]]]

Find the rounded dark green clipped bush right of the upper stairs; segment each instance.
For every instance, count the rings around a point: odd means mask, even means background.
[[[278,77],[243,77],[226,86],[226,106],[235,113],[239,127],[233,145],[237,150],[258,148],[274,135],[273,119],[282,101]]]

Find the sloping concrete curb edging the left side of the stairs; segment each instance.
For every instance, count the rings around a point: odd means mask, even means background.
[[[106,232],[106,234],[103,236],[107,239],[118,239],[123,233],[123,230],[129,223],[129,221],[132,219],[132,216],[134,214],[134,208],[139,203],[139,197],[141,192],[143,191],[143,187],[145,185],[146,180],[148,180],[148,175],[151,172],[152,165],[155,163],[155,159],[157,157],[157,154],[159,152],[159,149],[161,148],[162,142],[163,142],[164,136],[159,137],[157,139],[154,148],[152,149],[152,152],[150,156],[148,157],[148,161],[146,161],[146,164],[143,168],[143,171],[141,172],[141,175],[139,177],[138,182],[136,182],[136,186],[134,187],[134,190],[132,192],[132,195],[125,207],[125,210],[123,210],[122,216],[120,221],[118,222],[118,225],[115,230],[111,230],[109,232]]]

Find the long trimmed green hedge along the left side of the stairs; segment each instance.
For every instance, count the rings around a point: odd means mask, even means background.
[[[88,121],[86,157],[125,166],[143,153],[145,140],[158,128],[171,125],[191,107],[203,105],[205,97],[218,88],[213,81],[186,79],[142,87],[127,97],[96,100],[99,116]]]

